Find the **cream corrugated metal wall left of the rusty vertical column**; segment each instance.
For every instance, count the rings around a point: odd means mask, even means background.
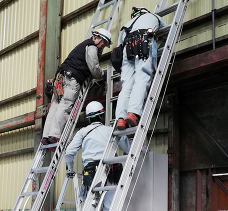
[[[23,43],[24,38],[38,32],[39,12],[40,0],[4,3],[0,8],[0,51]],[[36,89],[37,68],[37,36],[0,54],[0,101]],[[35,110],[35,94],[25,95],[0,105],[0,122]],[[33,147],[34,125],[0,133],[0,210],[13,208],[34,157]],[[19,151],[21,154],[17,154]],[[26,209],[30,209],[30,204]]]

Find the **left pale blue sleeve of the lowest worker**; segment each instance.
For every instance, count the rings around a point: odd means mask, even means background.
[[[73,171],[74,156],[78,153],[79,149],[81,148],[82,139],[83,135],[81,130],[79,130],[66,149],[65,164],[68,167],[68,171]]]

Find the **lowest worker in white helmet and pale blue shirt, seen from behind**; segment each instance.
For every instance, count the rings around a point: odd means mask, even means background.
[[[89,119],[90,125],[80,129],[74,136],[72,142],[66,149],[65,163],[67,166],[67,176],[74,174],[73,164],[74,156],[82,147],[82,164],[83,184],[80,193],[80,199],[85,201],[87,191],[89,190],[93,178],[95,176],[96,167],[99,165],[100,159],[104,153],[105,147],[109,141],[112,127],[103,125],[104,123],[104,107],[97,101],[92,101],[86,106],[86,117]],[[120,140],[120,147],[123,151],[129,151],[130,143],[127,137]],[[122,164],[114,164],[111,168],[108,182],[109,184],[117,184],[122,172]],[[108,191],[104,198],[104,211],[109,207],[114,196],[114,191]]]

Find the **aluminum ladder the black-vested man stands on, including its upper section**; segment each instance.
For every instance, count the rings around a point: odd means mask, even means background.
[[[93,17],[93,20],[92,20],[92,23],[88,30],[86,39],[90,38],[92,36],[92,31],[96,27],[98,27],[102,24],[106,24],[106,29],[108,31],[110,31],[114,16],[117,12],[119,4],[120,4],[120,0],[113,0],[113,1],[109,1],[108,3],[105,3],[105,0],[99,1],[97,9],[96,9],[94,17]],[[113,5],[113,7],[112,7],[109,18],[98,22],[101,10],[107,8],[110,5]],[[91,87],[91,84],[92,84],[92,77],[90,77],[88,80],[86,80],[83,83],[79,96],[78,96],[77,100],[75,101],[75,104],[70,113],[69,119],[64,127],[64,130],[63,130],[63,133],[61,135],[59,142],[56,144],[49,144],[49,145],[43,145],[40,143],[40,145],[37,149],[37,152],[35,154],[34,160],[32,162],[32,165],[31,165],[29,172],[27,174],[27,177],[25,179],[25,182],[19,193],[17,201],[14,205],[13,211],[19,211],[24,198],[28,197],[27,200],[25,201],[25,205],[26,205],[32,196],[36,196],[36,198],[32,205],[31,210],[32,211],[41,210],[43,203],[46,199],[46,196],[48,194],[48,191],[51,187],[51,184],[56,177],[56,174],[58,172],[61,161],[65,155],[66,147],[68,146],[68,144],[71,141],[71,136],[73,134],[74,128],[78,121],[81,109],[82,109],[84,101],[86,99],[88,90]],[[56,147],[56,151],[53,155],[50,165],[47,167],[42,167],[43,163],[44,163],[44,158],[47,153],[47,149],[51,148],[51,147]],[[38,179],[37,174],[40,174],[40,173],[46,173],[46,175],[43,179],[42,185],[40,187],[40,190],[38,192],[27,192],[27,189],[28,189],[29,185],[31,184],[31,182],[36,181]],[[24,205],[24,207],[25,207],[25,205]]]

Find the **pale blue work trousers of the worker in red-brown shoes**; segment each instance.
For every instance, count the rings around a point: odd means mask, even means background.
[[[116,119],[125,119],[128,113],[142,115],[142,107],[157,69],[157,43],[150,38],[149,58],[128,60],[126,47],[123,51],[121,71],[122,90],[116,106]]]

